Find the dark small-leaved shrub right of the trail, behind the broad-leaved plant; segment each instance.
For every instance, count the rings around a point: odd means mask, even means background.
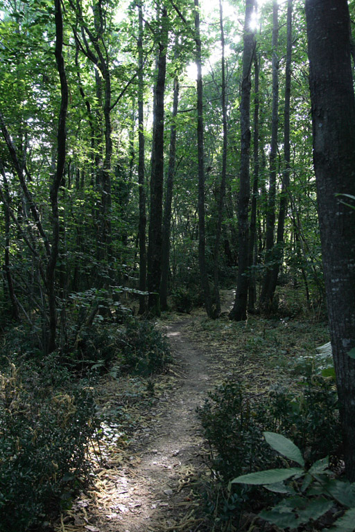
[[[207,493],[207,512],[213,515],[216,530],[225,530],[230,522],[234,526],[245,508],[255,511],[272,504],[273,495],[257,486],[233,484],[226,489],[234,477],[283,465],[270,452],[263,431],[291,436],[309,463],[327,454],[333,461],[339,458],[336,390],[318,375],[302,381],[297,393],[278,386],[252,395],[241,382],[230,380],[209,393],[198,414],[211,448],[214,486]]]

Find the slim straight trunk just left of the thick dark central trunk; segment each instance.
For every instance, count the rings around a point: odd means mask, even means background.
[[[144,180],[144,78],[143,78],[143,13],[141,1],[138,5],[138,185],[139,185],[139,290],[146,292],[147,254],[146,254],[146,186]],[[139,314],[146,311],[146,296],[139,296]]]

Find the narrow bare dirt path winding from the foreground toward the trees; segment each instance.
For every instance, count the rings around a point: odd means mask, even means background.
[[[141,445],[136,476],[127,479],[126,486],[140,506],[122,516],[117,531],[158,532],[177,526],[188,531],[189,523],[191,530],[196,530],[189,480],[196,478],[201,467],[196,407],[209,389],[209,375],[204,355],[184,336],[182,328],[182,323],[173,323],[167,330],[182,375],[178,387],[159,405],[148,445]]]

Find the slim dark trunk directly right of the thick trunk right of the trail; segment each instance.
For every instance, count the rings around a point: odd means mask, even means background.
[[[257,301],[257,286],[253,266],[256,265],[257,253],[254,253],[254,247],[257,236],[257,199],[259,190],[259,58],[254,55],[254,132],[253,132],[253,159],[254,172],[252,180],[252,202],[250,209],[250,237],[249,237],[249,260],[250,267],[249,287],[248,287],[248,311],[254,312],[254,306]]]

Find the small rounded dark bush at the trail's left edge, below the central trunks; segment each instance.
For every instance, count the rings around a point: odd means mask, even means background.
[[[128,321],[119,344],[122,369],[130,373],[162,373],[171,358],[166,337],[150,321]]]

